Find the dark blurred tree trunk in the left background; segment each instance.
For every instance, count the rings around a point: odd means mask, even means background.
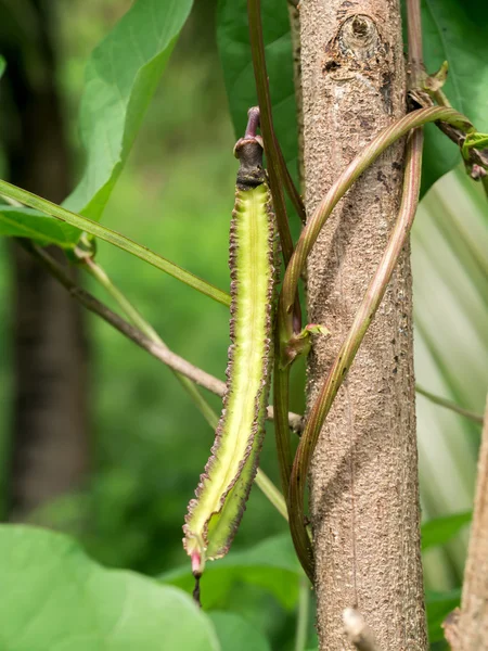
[[[70,174],[52,9],[42,0],[0,3],[0,47],[8,65],[2,131],[10,180],[61,202]],[[25,520],[85,476],[87,350],[80,310],[66,291],[15,243],[12,265],[15,393],[8,516]]]

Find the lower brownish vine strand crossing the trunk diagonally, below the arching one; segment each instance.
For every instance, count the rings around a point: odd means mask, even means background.
[[[415,129],[409,136],[407,143],[403,193],[397,221],[376,272],[356,312],[349,332],[344,340],[332,368],[329,371],[329,375],[310,410],[293,463],[290,496],[287,500],[290,527],[298,558],[310,580],[313,580],[313,556],[310,540],[305,528],[304,512],[305,487],[310,461],[325,417],[331,409],[337,391],[339,390],[364,334],[381,304],[386,286],[391,278],[401,250],[407,242],[412,227],[419,202],[422,145],[422,130]],[[335,186],[337,187],[337,183]],[[334,196],[334,194],[332,196]]]

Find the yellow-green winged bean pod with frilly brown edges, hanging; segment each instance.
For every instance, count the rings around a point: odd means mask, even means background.
[[[234,153],[240,169],[230,228],[227,392],[211,456],[183,526],[195,576],[206,560],[228,552],[243,516],[265,434],[272,367],[275,237],[260,138],[246,131]]]

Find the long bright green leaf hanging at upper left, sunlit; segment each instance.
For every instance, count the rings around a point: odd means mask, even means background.
[[[100,218],[191,7],[138,0],[93,51],[79,117],[87,166],[70,210]]]

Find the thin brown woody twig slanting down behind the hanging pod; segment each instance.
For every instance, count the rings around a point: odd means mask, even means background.
[[[104,321],[110,323],[113,328],[118,330],[121,334],[130,339],[139,347],[150,353],[156,359],[159,359],[168,366],[170,369],[185,375],[195,384],[203,386],[210,393],[218,396],[223,396],[226,392],[226,383],[210,375],[206,371],[193,366],[183,357],[180,357],[176,353],[172,353],[169,348],[160,346],[159,344],[151,341],[143,332],[121,319],[118,315],[112,311],[106,305],[101,303],[89,292],[79,288],[66,273],[63,266],[56,263],[43,248],[31,244],[28,240],[22,242],[23,246],[34,255],[42,265],[54,276],[61,284],[69,292],[69,294],[88,310],[101,317]],[[272,420],[274,417],[273,408],[268,407],[268,419]],[[294,432],[301,430],[303,417],[297,413],[290,413],[290,429]]]

